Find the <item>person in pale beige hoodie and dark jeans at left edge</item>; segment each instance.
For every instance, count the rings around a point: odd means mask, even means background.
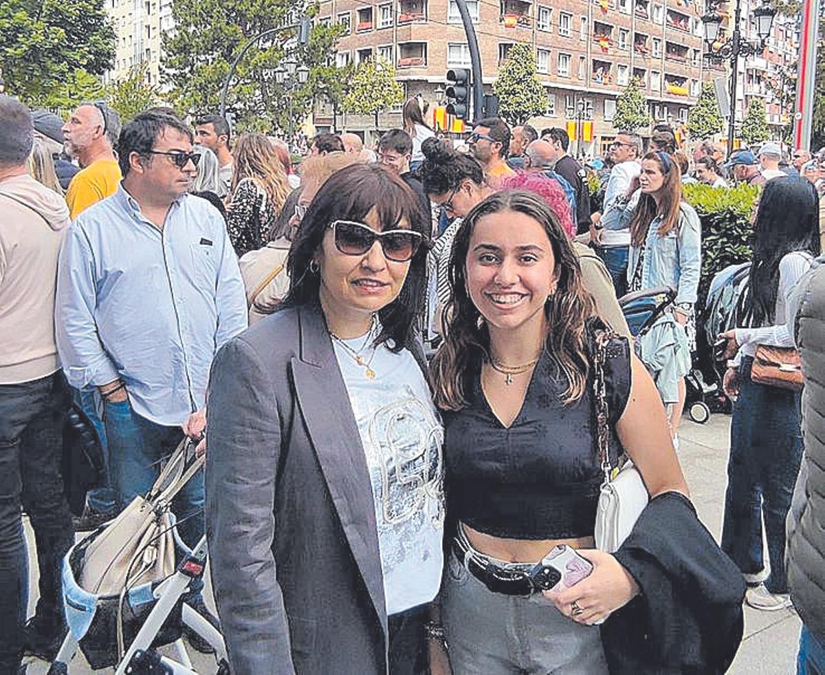
[[[68,208],[26,172],[33,125],[26,106],[0,96],[0,673],[24,653],[54,658],[63,639],[60,564],[72,517],[60,475],[69,393],[54,344],[54,288]],[[40,599],[28,604],[21,508],[37,545]]]

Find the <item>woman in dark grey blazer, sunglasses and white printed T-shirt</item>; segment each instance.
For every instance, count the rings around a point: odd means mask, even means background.
[[[233,673],[426,673],[441,422],[415,337],[429,224],[379,165],[321,186],[279,310],[212,366],[206,520]]]

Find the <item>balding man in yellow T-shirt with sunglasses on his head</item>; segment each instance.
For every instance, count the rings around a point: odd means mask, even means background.
[[[114,149],[120,117],[104,103],[82,103],[63,125],[63,135],[66,152],[82,167],[66,192],[68,210],[75,219],[117,190],[121,176]]]

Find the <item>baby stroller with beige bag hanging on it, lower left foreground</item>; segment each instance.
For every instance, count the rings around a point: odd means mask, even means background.
[[[205,537],[187,548],[171,511],[172,498],[203,466],[194,448],[191,439],[181,441],[146,497],[134,498],[115,520],[68,551],[63,586],[69,631],[49,673],[68,673],[80,649],[92,670],[196,675],[181,640],[183,625],[212,646],[216,672],[229,673],[223,637],[186,604],[192,580],[204,573]],[[176,658],[156,651],[167,644]]]

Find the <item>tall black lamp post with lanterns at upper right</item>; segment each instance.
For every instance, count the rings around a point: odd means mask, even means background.
[[[742,39],[739,31],[739,24],[742,22],[742,0],[736,0],[736,11],[733,15],[733,33],[728,40],[714,48],[714,44],[719,38],[719,28],[722,26],[722,17],[716,12],[721,2],[709,3],[709,12],[702,17],[705,26],[705,42],[708,44],[708,51],[705,56],[711,60],[724,61],[728,59],[731,67],[730,86],[730,119],[728,120],[728,155],[733,151],[733,135],[736,130],[736,85],[739,71],[740,56],[757,56],[765,50],[765,42],[771,35],[771,27],[776,16],[776,10],[771,7],[766,0],[761,7],[753,11],[753,17],[757,20],[757,43],[748,42]]]

